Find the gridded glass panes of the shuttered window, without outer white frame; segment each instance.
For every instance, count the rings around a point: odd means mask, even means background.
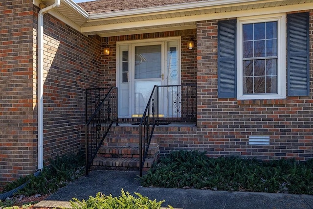
[[[277,93],[277,21],[243,25],[243,94]]]

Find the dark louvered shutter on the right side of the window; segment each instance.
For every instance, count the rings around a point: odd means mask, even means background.
[[[287,16],[288,96],[308,96],[309,83],[309,13]]]

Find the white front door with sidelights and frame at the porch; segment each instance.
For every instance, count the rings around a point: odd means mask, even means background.
[[[180,37],[117,43],[119,117],[141,116],[155,85],[180,84],[179,43]]]

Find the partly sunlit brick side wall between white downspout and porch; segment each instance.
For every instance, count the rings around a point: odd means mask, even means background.
[[[85,89],[100,87],[101,38],[45,14],[44,159],[82,148]]]

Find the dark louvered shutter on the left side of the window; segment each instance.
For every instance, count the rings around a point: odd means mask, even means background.
[[[218,22],[218,97],[236,97],[236,20]]]

